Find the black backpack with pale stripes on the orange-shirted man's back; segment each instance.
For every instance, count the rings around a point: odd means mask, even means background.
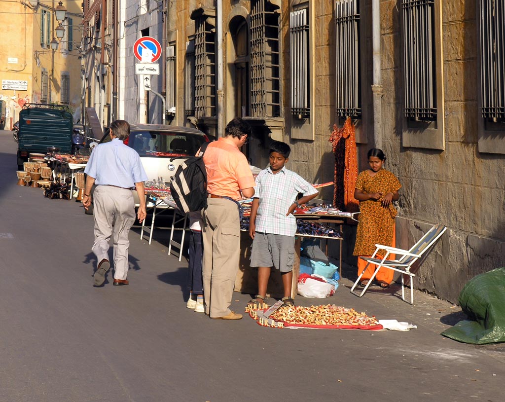
[[[176,170],[170,182],[170,193],[183,212],[207,208],[207,172],[202,158],[209,142],[200,147],[198,156],[188,158]]]

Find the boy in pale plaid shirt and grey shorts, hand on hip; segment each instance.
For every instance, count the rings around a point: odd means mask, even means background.
[[[256,178],[256,192],[249,218],[252,240],[251,267],[258,267],[258,294],[249,303],[267,302],[267,285],[271,267],[280,270],[284,286],[284,305],[294,305],[291,298],[293,281],[294,210],[316,197],[318,191],[284,165],[291,148],[285,142],[270,145],[270,166]],[[298,194],[303,196],[297,199]]]

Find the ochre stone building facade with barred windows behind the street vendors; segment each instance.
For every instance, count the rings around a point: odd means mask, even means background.
[[[504,264],[503,54],[485,60],[487,44],[502,46],[503,33],[481,37],[478,25],[503,23],[502,2],[187,0],[168,7],[167,44],[177,66],[167,72],[172,124],[217,133],[222,99],[225,122],[242,116],[254,126],[253,164],[265,166],[268,142],[281,139],[292,146],[291,169],[325,182],[333,179],[333,124],[350,116],[360,170],[378,146],[402,183],[397,245],[408,248],[432,224],[448,227],[416,286],[456,301],[468,279]],[[485,81],[489,71],[497,80]],[[331,191],[322,196],[331,199]],[[353,230],[346,232],[352,263]]]

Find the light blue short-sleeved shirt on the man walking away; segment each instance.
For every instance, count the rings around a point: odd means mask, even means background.
[[[131,188],[135,183],[147,180],[136,150],[119,138],[96,145],[84,173],[94,177],[97,185]]]

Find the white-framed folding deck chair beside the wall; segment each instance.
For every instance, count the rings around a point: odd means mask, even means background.
[[[410,285],[411,285],[411,301],[410,304],[414,304],[414,288],[413,288],[413,282],[414,282],[414,277],[416,276],[413,272],[411,272],[411,268],[414,265],[416,261],[418,261],[423,255],[427,255],[431,247],[437,242],[437,240],[442,236],[442,234],[445,232],[447,228],[443,225],[435,225],[433,226],[430,230],[426,232],[426,234],[421,237],[421,239],[412,246],[410,250],[402,250],[400,248],[394,248],[390,247],[387,245],[381,245],[381,244],[376,244],[375,246],[377,247],[375,249],[374,254],[372,257],[360,257],[362,260],[367,262],[367,265],[363,272],[358,276],[358,279],[352,285],[350,292],[352,294],[357,295],[358,297],[361,297],[365,294],[365,292],[368,290],[368,287],[371,285],[372,281],[375,279],[375,276],[377,275],[377,272],[379,272],[380,268],[387,268],[391,269],[393,271],[401,273],[401,298],[403,301],[406,301],[407,303],[408,300],[405,299],[405,282],[403,279],[403,275],[409,275],[410,276]],[[386,250],[386,253],[382,259],[375,258],[377,255],[377,252],[382,249]],[[396,260],[388,260],[388,256],[391,254],[396,255]],[[422,262],[423,260],[421,260]],[[357,293],[354,291],[356,286],[360,283],[361,278],[363,277],[363,274],[367,270],[368,266],[370,264],[375,265],[377,268],[375,269],[374,274],[372,275],[372,278],[368,281],[367,285],[363,288],[361,293]]]

